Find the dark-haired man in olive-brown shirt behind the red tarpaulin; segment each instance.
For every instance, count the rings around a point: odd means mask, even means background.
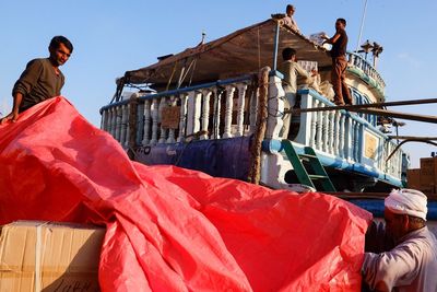
[[[73,45],[64,36],[55,36],[48,47],[50,56],[29,61],[12,90],[12,112],[1,119],[16,121],[19,114],[50,97],[59,96],[64,77],[59,67],[73,51]]]

